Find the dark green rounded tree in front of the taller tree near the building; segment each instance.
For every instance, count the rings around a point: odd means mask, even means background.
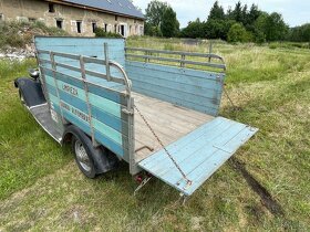
[[[179,22],[176,19],[176,12],[170,7],[163,14],[161,30],[165,38],[176,36],[179,32]]]

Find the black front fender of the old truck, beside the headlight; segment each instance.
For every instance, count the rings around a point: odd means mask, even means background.
[[[46,103],[40,82],[21,77],[14,80],[14,86],[20,89],[28,107]]]

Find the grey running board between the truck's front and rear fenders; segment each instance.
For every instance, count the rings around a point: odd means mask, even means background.
[[[62,134],[56,129],[55,123],[51,117],[49,105],[41,104],[28,107],[38,124],[59,144],[62,143]]]

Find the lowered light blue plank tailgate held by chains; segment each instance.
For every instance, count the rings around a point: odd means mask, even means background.
[[[257,131],[257,128],[217,117],[167,146],[180,169],[193,181],[190,186],[164,150],[156,151],[138,166],[190,196]]]

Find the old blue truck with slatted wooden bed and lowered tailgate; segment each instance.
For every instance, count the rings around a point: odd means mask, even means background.
[[[128,164],[190,196],[258,129],[218,116],[215,54],[126,48],[123,39],[34,39],[39,70],[14,81],[22,104],[89,178]],[[167,65],[169,64],[169,65]]]

